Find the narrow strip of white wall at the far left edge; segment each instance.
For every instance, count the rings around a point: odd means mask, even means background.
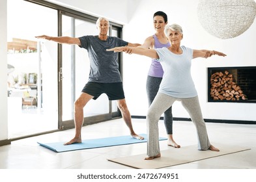
[[[8,137],[7,126],[7,0],[0,1],[0,140]]]

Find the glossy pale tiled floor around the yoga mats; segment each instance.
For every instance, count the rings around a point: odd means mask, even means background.
[[[146,133],[143,119],[133,120],[136,133]],[[165,137],[164,122],[160,121],[160,136]],[[202,161],[180,164],[166,169],[256,169],[256,125],[206,123],[210,142],[251,148]],[[174,137],[182,146],[197,144],[192,122],[174,121]],[[83,139],[128,135],[122,119],[83,127]],[[130,144],[107,148],[83,149],[55,153],[36,142],[65,142],[74,136],[74,129],[16,140],[0,147],[1,169],[131,169],[128,166],[107,161],[107,158],[146,153],[147,144]],[[166,140],[160,142],[162,150],[169,148]],[[146,156],[146,154],[145,154]]]

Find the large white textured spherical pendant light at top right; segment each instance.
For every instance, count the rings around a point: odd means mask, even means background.
[[[203,28],[221,39],[234,38],[245,32],[255,15],[254,0],[200,0],[197,7]]]

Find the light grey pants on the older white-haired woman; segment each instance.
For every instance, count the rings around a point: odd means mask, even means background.
[[[181,101],[183,107],[188,111],[188,114],[190,114],[190,118],[197,131],[198,149],[206,150],[210,147],[210,141],[208,139],[198,97],[173,98],[158,92],[147,113],[147,155],[149,157],[156,156],[160,153],[158,120],[162,113],[171,107],[175,101]]]

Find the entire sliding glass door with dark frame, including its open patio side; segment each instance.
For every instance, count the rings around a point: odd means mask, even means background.
[[[96,35],[97,18],[42,0],[9,0],[7,6],[8,137],[74,127],[73,104],[89,77],[87,50],[35,36]],[[109,35],[121,37],[121,30],[111,22]],[[106,94],[91,100],[83,114],[85,125],[121,117]]]

